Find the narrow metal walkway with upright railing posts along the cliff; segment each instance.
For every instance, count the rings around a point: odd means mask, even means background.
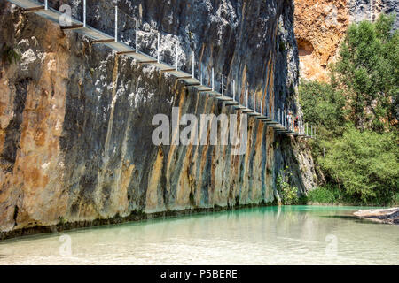
[[[57,11],[49,6],[48,0],[42,0],[40,2],[35,0],[8,0],[12,4],[16,4],[20,6],[24,13],[35,13],[45,19],[50,19],[53,22],[59,23],[60,27],[64,30],[74,30],[80,34],[83,34],[90,38],[92,43],[95,44],[104,44],[107,47],[115,50],[117,54],[124,55],[128,57],[132,57],[137,61],[137,64],[140,65],[153,65],[157,67],[162,73],[170,73],[173,76],[176,76],[178,80],[183,80],[187,87],[197,88],[200,93],[206,93],[210,97],[215,97],[215,99],[223,101],[226,107],[233,107],[237,111],[242,111],[246,113],[250,117],[254,117],[255,119],[261,120],[266,125],[272,127],[277,131],[278,134],[286,134],[286,135],[294,135],[300,136],[304,138],[315,138],[316,137],[316,129],[313,126],[308,125],[296,125],[293,126],[293,119],[290,119],[290,116],[287,115],[287,111],[284,109],[275,109],[272,114],[268,113],[268,108],[263,107],[263,101],[261,103],[256,103],[255,95],[253,97],[249,97],[248,87],[245,87],[245,99],[243,102],[240,101],[241,97],[241,86],[238,86],[235,80],[232,80],[232,96],[228,96],[228,86],[227,86],[227,78],[224,79],[225,76],[222,74],[221,83],[216,87],[218,82],[215,80],[215,69],[212,68],[211,75],[207,83],[205,83],[204,74],[202,73],[202,66],[199,64],[199,70],[196,70],[195,57],[194,52],[192,52],[192,56],[190,57],[190,64],[192,66],[192,73],[186,73],[179,69],[179,55],[178,44],[176,42],[175,47],[175,62],[174,64],[167,64],[160,60],[160,33],[158,33],[157,38],[157,49],[154,50],[156,57],[152,57],[150,55],[145,54],[145,52],[140,51],[140,42],[139,42],[139,25],[138,20],[136,20],[135,27],[135,39],[134,39],[134,47],[130,46],[131,43],[127,44],[120,41],[120,32],[119,32],[119,17],[120,14],[123,13],[118,6],[114,7],[115,10],[115,19],[114,19],[114,35],[111,36],[104,32],[99,31],[96,28],[90,27],[87,24],[87,4],[86,0],[82,0],[80,7],[82,9],[82,21],[78,19],[74,19],[72,15],[68,17],[63,12]],[[62,6],[61,6],[62,7]],[[127,15],[127,14],[126,14]],[[129,17],[129,15],[127,15]],[[131,17],[129,17],[131,18]],[[133,18],[131,18],[133,19]],[[67,23],[67,25],[61,25],[61,23]],[[196,71],[198,74],[196,75]],[[220,91],[218,91],[220,89]],[[252,102],[250,100],[253,100]],[[252,107],[250,107],[250,103],[252,103]],[[258,108],[256,106],[259,106]],[[259,110],[259,112],[258,112]]]

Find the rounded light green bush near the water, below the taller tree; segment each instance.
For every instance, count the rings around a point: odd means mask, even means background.
[[[361,203],[389,203],[399,192],[399,147],[395,134],[356,128],[333,140],[318,162]]]

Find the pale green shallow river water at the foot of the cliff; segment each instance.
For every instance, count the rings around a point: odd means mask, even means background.
[[[354,207],[215,212],[0,241],[0,264],[399,264],[399,226]]]

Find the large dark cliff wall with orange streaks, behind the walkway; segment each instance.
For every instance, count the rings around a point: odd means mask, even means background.
[[[248,84],[270,109],[284,106],[301,115],[292,1],[118,4],[141,20],[142,50],[153,50],[158,29],[164,57],[174,52],[172,40],[184,52],[181,68],[190,67],[186,58],[194,50],[207,74],[214,66]],[[308,149],[255,119],[248,119],[243,156],[232,156],[230,146],[153,145],[153,116],[170,117],[173,106],[180,115],[233,111],[173,76],[35,14],[23,15],[8,2],[0,11],[0,48],[22,54],[17,63],[1,65],[3,234],[137,212],[271,203],[286,167],[301,192],[315,186]],[[90,26],[113,33],[109,2],[90,3],[89,11]],[[134,22],[123,22],[123,36],[131,38]]]

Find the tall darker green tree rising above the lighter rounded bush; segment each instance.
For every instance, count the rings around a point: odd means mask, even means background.
[[[399,96],[399,31],[395,15],[351,25],[332,65],[332,86],[344,90],[357,128],[382,133],[395,125]]]

